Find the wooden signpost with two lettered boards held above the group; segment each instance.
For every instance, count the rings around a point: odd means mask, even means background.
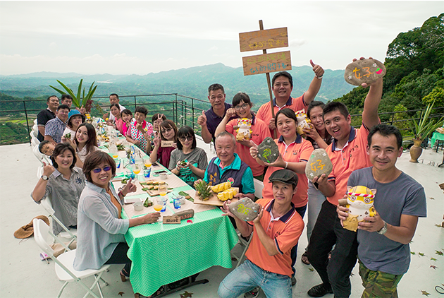
[[[262,20],[259,20],[259,31],[239,33],[240,52],[262,50],[261,55],[242,57],[244,76],[259,73],[266,74],[269,85],[271,115],[274,118],[273,93],[271,92],[270,73],[274,71],[289,71],[291,69],[290,51],[267,54],[266,49],[288,47],[287,28],[264,30]],[[276,138],[276,130],[274,131]]]

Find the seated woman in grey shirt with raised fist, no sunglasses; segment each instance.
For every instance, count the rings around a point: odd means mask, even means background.
[[[85,175],[74,166],[76,159],[75,150],[68,143],[57,144],[51,155],[52,165],[44,164],[42,177],[31,193],[36,203],[48,197],[54,215],[63,225],[73,228],[77,226],[77,207],[85,188]],[[63,231],[56,221],[52,229],[56,235]]]

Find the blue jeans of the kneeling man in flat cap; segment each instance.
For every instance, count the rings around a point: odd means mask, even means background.
[[[290,276],[266,271],[248,259],[222,280],[217,294],[221,298],[237,298],[255,287],[261,287],[269,298],[292,297]]]

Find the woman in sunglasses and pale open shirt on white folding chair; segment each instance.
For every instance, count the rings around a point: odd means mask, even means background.
[[[121,218],[123,198],[137,189],[131,179],[118,192],[110,184],[116,175],[116,162],[103,151],[95,151],[85,160],[87,182],[78,205],[78,238],[75,270],[98,269],[104,264],[125,264],[121,279],[130,276],[131,261],[123,235],[128,228],[156,222],[160,213]]]

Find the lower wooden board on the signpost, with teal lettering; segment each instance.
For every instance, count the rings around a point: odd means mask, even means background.
[[[290,51],[242,57],[244,76],[291,70]]]

